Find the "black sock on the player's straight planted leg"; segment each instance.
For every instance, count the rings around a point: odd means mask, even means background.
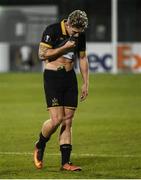
[[[62,165],[70,162],[71,150],[72,150],[71,144],[60,145],[60,151],[61,151],[61,155],[62,155]]]

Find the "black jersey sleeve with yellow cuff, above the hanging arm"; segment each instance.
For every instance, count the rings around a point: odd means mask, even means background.
[[[86,55],[86,36],[81,34],[78,40],[78,56],[83,57]]]

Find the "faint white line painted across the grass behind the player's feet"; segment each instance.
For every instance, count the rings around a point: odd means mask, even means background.
[[[33,155],[32,152],[0,152],[0,155]],[[141,155],[133,154],[93,154],[93,153],[72,153],[73,156],[82,156],[82,157],[121,157],[121,158],[141,158]],[[60,153],[46,153],[46,156],[60,156]]]

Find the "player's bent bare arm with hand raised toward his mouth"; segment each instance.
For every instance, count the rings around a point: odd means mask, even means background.
[[[39,45],[39,58],[42,61],[54,61],[73,47],[75,47],[74,41],[67,41],[63,46],[55,49],[41,42]]]

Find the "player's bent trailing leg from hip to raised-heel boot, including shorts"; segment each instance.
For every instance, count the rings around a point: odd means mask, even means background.
[[[62,80],[59,72],[52,70],[44,71],[44,91],[50,119],[44,122],[42,131],[34,150],[34,163],[37,168],[42,168],[43,154],[46,143],[61,123],[64,110],[62,105]]]

